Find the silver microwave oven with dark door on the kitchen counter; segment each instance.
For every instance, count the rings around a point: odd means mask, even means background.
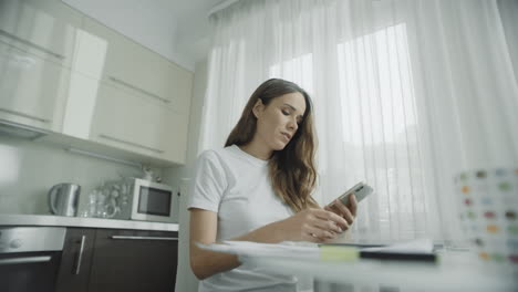
[[[117,186],[121,198],[114,219],[175,222],[178,212],[178,198],[173,188],[165,184],[142,178],[126,178],[111,184]]]

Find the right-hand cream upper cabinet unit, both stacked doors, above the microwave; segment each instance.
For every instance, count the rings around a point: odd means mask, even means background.
[[[82,80],[100,80],[91,90],[95,109],[89,131],[68,131],[72,118],[64,133],[84,138],[87,132],[100,144],[184,164],[193,74],[95,20],[85,18],[80,48],[90,48],[90,54],[79,54],[73,70]],[[84,93],[87,86],[79,87]]]

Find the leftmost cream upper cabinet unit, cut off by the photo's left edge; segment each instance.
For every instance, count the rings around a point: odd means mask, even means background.
[[[59,131],[82,17],[55,0],[0,0],[0,119]]]

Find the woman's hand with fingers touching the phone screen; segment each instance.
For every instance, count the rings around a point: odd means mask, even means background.
[[[349,229],[345,219],[324,209],[310,208],[276,223],[281,241],[322,242]]]

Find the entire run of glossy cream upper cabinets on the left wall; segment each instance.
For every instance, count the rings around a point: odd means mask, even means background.
[[[60,0],[0,0],[0,122],[68,148],[186,160],[193,73]]]

